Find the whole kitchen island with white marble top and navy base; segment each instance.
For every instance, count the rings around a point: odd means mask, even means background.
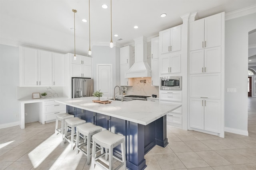
[[[126,166],[131,170],[146,168],[146,154],[155,145],[166,147],[166,114],[180,104],[166,104],[142,100],[112,101],[111,104],[92,102],[93,97],[55,100],[66,104],[67,112],[76,117],[126,136]],[[115,156],[121,158],[116,147]]]

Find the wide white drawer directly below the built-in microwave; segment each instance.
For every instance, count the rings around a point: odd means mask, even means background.
[[[181,91],[168,91],[168,90],[164,90],[164,91],[160,91],[159,94],[159,98],[160,100],[168,100],[168,101],[175,101],[175,102],[182,102],[182,92]]]

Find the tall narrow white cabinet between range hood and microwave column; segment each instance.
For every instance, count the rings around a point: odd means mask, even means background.
[[[159,86],[159,37],[151,39],[151,85]]]

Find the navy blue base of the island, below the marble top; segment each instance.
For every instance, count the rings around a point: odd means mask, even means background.
[[[168,144],[166,115],[148,125],[141,125],[68,105],[66,111],[75,117],[86,120],[86,122],[94,123],[113,133],[126,136],[126,168],[129,170],[144,170],[146,168],[144,155],[155,145],[166,147]],[[113,154],[122,159],[121,147],[116,147]]]

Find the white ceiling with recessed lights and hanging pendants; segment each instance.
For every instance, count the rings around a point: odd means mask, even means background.
[[[90,0],[91,42],[110,42],[110,0]],[[198,12],[204,18],[256,5],[256,0],[112,0],[113,41],[120,47],[142,35],[154,37],[159,31],[182,24],[180,16]],[[2,44],[32,45],[63,52],[74,51],[76,9],[76,52],[87,55],[89,48],[88,0],[0,0]],[[166,13],[165,18],[160,14]],[[138,29],[133,26],[138,25]],[[118,39],[121,41],[117,41]],[[93,47],[92,47],[93,52]]]

